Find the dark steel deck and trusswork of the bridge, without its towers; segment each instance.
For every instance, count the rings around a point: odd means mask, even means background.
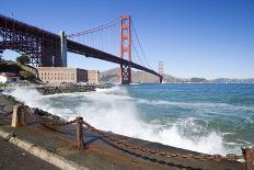
[[[85,57],[97,58],[147,71],[158,76],[160,82],[163,79],[160,73],[150,68],[71,39],[66,39],[66,48],[67,52]],[[5,49],[28,55],[33,66],[66,67],[66,59],[62,56],[62,37],[60,35],[0,15],[0,53]]]

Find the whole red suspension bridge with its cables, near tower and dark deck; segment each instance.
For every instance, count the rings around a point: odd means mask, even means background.
[[[41,67],[67,67],[67,52],[119,64],[123,84],[131,82],[131,68],[155,75],[160,82],[163,79],[148,63],[129,15],[69,35],[0,15],[0,53],[5,49],[26,54],[33,66]]]

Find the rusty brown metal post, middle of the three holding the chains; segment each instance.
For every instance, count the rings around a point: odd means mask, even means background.
[[[76,117],[76,146],[79,150],[83,149],[83,117]]]

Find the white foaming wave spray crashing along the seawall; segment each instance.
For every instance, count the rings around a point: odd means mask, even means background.
[[[116,87],[91,93],[57,94],[51,97],[43,97],[32,89],[15,89],[11,92],[11,95],[30,106],[41,107],[67,120],[81,115],[88,123],[103,131],[111,131],[200,152],[227,154],[223,147],[223,135],[219,133],[209,132],[194,139],[181,133],[180,126],[185,126],[185,124],[173,123],[165,126],[143,122],[139,117],[140,114],[136,109],[136,103],[124,88]],[[83,98],[88,102],[79,103],[79,106],[76,107],[69,106],[69,103],[62,103],[61,106],[53,106],[53,103],[50,103],[50,100],[53,102],[59,98],[74,97]],[[195,127],[197,125],[193,123],[192,126]]]

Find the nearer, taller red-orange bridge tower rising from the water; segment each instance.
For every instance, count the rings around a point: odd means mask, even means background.
[[[120,83],[131,82],[131,25],[130,15],[120,18],[120,58],[127,59],[128,64],[120,64]]]

